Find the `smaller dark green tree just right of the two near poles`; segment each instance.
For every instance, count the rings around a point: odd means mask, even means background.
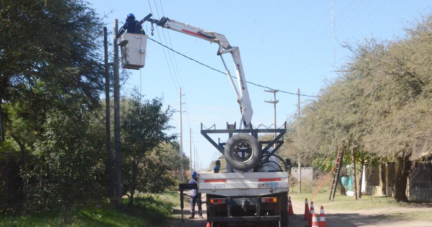
[[[126,113],[122,118],[122,151],[125,164],[130,170],[125,172],[125,189],[130,193],[129,206],[132,208],[137,189],[147,192],[160,192],[157,183],[164,184],[168,165],[158,159],[158,152],[152,153],[162,143],[170,142],[176,135],[168,135],[167,130],[173,128],[169,120],[173,109],[163,109],[161,98],[143,99],[137,90],[128,100]],[[157,151],[157,150],[156,150]],[[149,186],[149,184],[154,184]],[[153,189],[157,190],[153,190]]]

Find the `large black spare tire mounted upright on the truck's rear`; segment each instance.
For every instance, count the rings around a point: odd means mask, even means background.
[[[238,134],[231,137],[224,150],[228,164],[240,171],[253,169],[259,163],[261,153],[260,143],[249,134]]]

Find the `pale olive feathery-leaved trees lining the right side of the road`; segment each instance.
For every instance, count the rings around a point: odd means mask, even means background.
[[[432,154],[431,37],[429,14],[392,40],[345,44],[352,55],[290,121],[282,153],[323,172],[335,165],[338,150],[345,151],[344,163],[352,163],[353,154],[359,172],[365,164],[395,162],[392,194],[408,201],[411,167]],[[357,183],[361,191],[361,179]]]

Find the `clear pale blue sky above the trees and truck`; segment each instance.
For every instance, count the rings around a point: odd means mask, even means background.
[[[247,81],[290,92],[316,95],[327,80],[336,76],[334,70],[350,56],[341,47],[365,38],[393,39],[403,35],[403,27],[431,12],[430,1],[402,0],[332,0],[324,1],[90,1],[96,12],[113,11],[105,20],[109,30],[113,20],[123,22],[128,13],[137,19],[153,12],[208,31],[224,34],[232,46],[240,47]],[[150,9],[151,8],[151,9]],[[334,9],[334,10],[333,10]],[[162,12],[163,11],[163,12]],[[333,17],[335,25],[333,26]],[[121,26],[121,24],[120,24]],[[144,29],[150,33],[150,25]],[[162,32],[164,34],[162,34]],[[173,49],[224,71],[217,44],[155,27],[151,38],[161,40]],[[160,38],[158,36],[160,35]],[[112,37],[110,37],[112,39]],[[232,60],[225,56],[231,72]],[[168,63],[167,63],[168,62]],[[189,156],[189,129],[192,147],[198,150],[203,168],[208,167],[215,149],[200,135],[200,123],[224,129],[226,122],[239,123],[240,110],[227,77],[212,71],[163,47],[148,41],[146,66],[131,70],[132,76],[122,88],[129,93],[141,87],[147,98],[163,96],[166,105],[178,109],[178,87],[183,96],[183,151]],[[141,81],[141,86],[140,86]],[[252,124],[271,125],[273,105],[265,103],[273,95],[261,87],[248,85],[254,109]],[[278,125],[296,111],[297,96],[277,93]],[[301,103],[307,98],[301,97]],[[171,124],[178,133],[178,113]],[[217,137],[215,138],[217,140]],[[225,135],[221,135],[225,140]]]

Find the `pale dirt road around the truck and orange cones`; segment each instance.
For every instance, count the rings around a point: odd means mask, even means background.
[[[304,213],[304,202],[293,201],[293,210],[296,215],[289,216],[289,227],[304,227],[307,224],[306,221],[302,220]],[[382,209],[368,209],[368,210],[356,210],[356,211],[340,211],[326,209],[326,221],[327,226],[338,226],[338,227],[351,227],[351,226],[432,226],[432,223],[427,221],[411,221],[403,220],[402,218],[393,218],[388,216],[388,213],[401,212],[400,209],[418,209],[418,210],[431,210],[430,207],[390,207]],[[318,210],[319,212],[319,210]],[[206,207],[205,203],[202,204],[203,218],[188,219],[189,216],[189,205],[185,204],[184,207],[184,222],[181,222],[180,207],[174,208],[174,218],[168,222],[167,226],[177,227],[205,227],[206,221]],[[238,225],[233,225],[238,226]],[[251,225],[249,225],[251,226]]]

